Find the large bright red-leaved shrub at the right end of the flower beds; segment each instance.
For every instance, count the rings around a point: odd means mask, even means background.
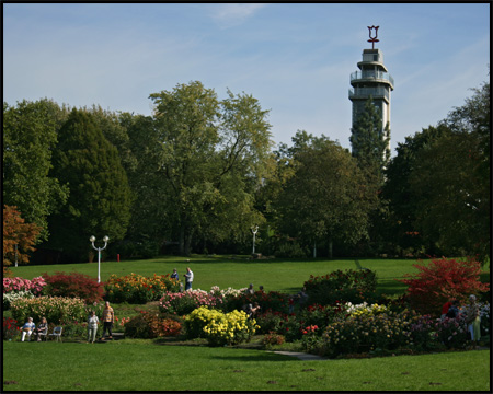
[[[413,264],[417,274],[404,274],[405,279],[395,279],[409,286],[411,305],[419,312],[432,315],[442,313],[442,305],[457,299],[465,302],[469,294],[489,290],[481,283],[481,264],[472,258],[434,259],[427,266]]]

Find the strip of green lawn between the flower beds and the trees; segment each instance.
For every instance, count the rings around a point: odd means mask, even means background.
[[[101,263],[101,280],[110,275],[118,276],[130,273],[152,276],[154,273],[171,274],[177,268],[181,279],[190,266],[194,271],[193,288],[210,290],[213,286],[236,289],[253,283],[255,289],[263,285],[266,291],[295,292],[298,291],[310,275],[325,275],[336,269],[370,268],[377,273],[380,292],[392,294],[403,293],[405,286],[394,280],[402,278],[405,273],[414,273],[412,259],[272,259],[249,260],[246,257],[161,257],[148,260],[104,262]],[[98,263],[62,264],[44,266],[13,267],[14,276],[32,279],[42,273],[78,271],[98,277]]]

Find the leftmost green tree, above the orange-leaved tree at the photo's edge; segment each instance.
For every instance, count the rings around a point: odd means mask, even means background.
[[[66,117],[65,107],[46,99],[24,100],[15,106],[3,103],[3,201],[39,225],[39,240],[48,239],[47,218],[68,195],[68,188],[49,173],[58,125]]]

